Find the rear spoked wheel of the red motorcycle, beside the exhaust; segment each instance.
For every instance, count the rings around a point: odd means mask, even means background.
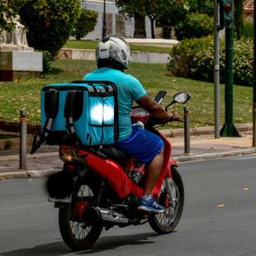
[[[102,233],[102,225],[87,224],[83,220],[83,211],[80,211],[84,206],[92,205],[94,200],[92,185],[82,183],[74,190],[72,202],[59,209],[60,233],[65,244],[73,250],[91,248]]]

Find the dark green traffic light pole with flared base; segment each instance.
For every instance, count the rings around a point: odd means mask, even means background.
[[[232,14],[233,0],[231,2]],[[233,124],[233,45],[234,45],[234,21],[230,27],[225,27],[225,125],[220,130],[220,135],[239,137],[239,133]]]

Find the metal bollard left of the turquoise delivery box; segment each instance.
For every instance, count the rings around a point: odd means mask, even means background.
[[[21,111],[20,169],[26,170],[26,111]]]

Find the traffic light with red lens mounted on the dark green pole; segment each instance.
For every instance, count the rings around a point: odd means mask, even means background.
[[[220,0],[220,30],[233,26],[233,0]]]

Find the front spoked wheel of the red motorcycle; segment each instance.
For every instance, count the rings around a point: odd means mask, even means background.
[[[159,234],[166,234],[171,232],[183,213],[184,205],[184,187],[183,180],[178,171],[172,167],[172,178],[169,179],[173,191],[173,198],[175,206],[168,203],[168,190],[167,185],[164,183],[159,192],[159,204],[164,206],[164,212],[153,216],[149,216],[149,225],[152,229]]]

